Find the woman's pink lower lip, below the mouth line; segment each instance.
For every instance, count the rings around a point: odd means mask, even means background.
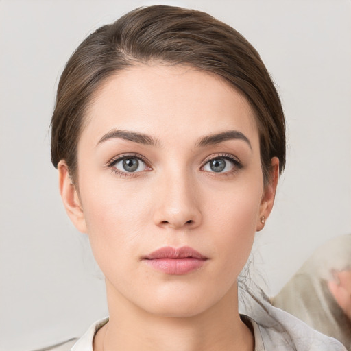
[[[147,265],[150,265],[166,274],[189,274],[192,271],[200,269],[206,260],[199,258],[154,258],[145,260]]]

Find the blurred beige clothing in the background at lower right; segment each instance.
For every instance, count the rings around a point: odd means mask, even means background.
[[[327,285],[333,279],[332,271],[344,269],[351,269],[351,234],[319,247],[271,302],[351,351],[351,321]]]

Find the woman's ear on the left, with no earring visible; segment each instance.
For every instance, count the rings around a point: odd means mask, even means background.
[[[69,215],[69,218],[77,230],[86,233],[86,222],[83,208],[80,204],[80,198],[75,189],[75,185],[71,180],[69,169],[64,160],[60,160],[58,163],[58,184],[67,215]]]

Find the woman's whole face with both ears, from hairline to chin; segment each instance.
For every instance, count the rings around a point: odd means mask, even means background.
[[[60,163],[62,197],[112,300],[190,316],[235,294],[276,186],[240,93],[189,66],[133,66],[97,92],[77,159],[77,193]]]

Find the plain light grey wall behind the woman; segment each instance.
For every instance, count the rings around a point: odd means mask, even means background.
[[[62,68],[83,38],[157,1],[0,0],[0,350],[79,336],[106,315],[88,243],[64,213],[49,160]],[[197,8],[258,49],[287,116],[288,162],[254,249],[278,292],[315,247],[351,232],[351,2],[160,1]]]

